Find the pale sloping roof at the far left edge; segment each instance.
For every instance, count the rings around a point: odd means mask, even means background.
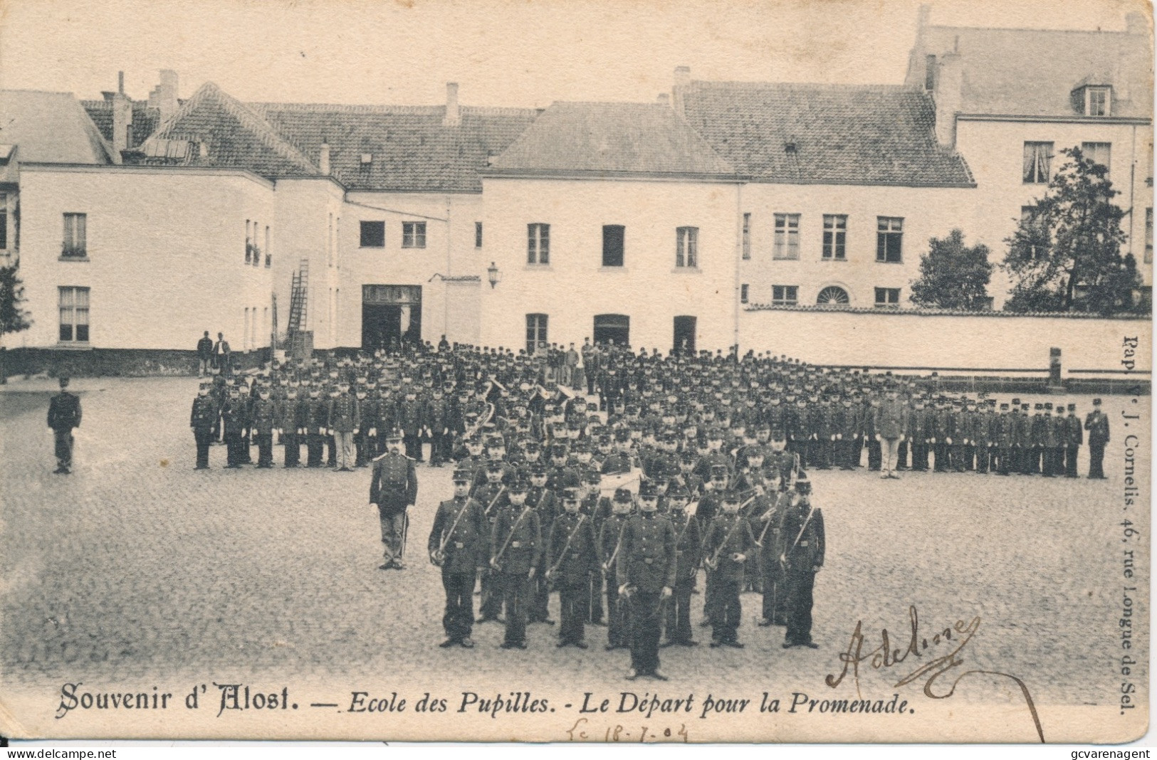
[[[112,149],[72,93],[0,90],[0,142],[17,146],[20,161],[112,162]]]

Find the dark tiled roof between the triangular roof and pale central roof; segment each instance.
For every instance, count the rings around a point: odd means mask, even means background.
[[[481,192],[478,171],[514,142],[537,109],[251,103],[287,141],[316,160],[330,146],[333,175],[349,190]],[[368,161],[362,161],[362,157]]]

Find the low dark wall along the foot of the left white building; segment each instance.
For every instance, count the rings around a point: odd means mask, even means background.
[[[242,368],[257,367],[270,356],[263,348],[231,355]],[[52,348],[0,349],[0,378],[47,375],[59,377],[147,377],[196,375],[199,368],[196,351],[93,348],[60,351]]]

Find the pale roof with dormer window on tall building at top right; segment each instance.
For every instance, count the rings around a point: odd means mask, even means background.
[[[928,27],[918,46],[960,57],[961,113],[1073,117],[1074,89],[1112,84],[1112,116],[1152,118],[1148,34]]]

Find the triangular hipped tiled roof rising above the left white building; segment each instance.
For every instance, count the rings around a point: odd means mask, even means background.
[[[153,149],[187,141],[183,156]],[[206,82],[141,146],[135,163],[235,167],[263,177],[319,175],[318,168],[244,103]]]

